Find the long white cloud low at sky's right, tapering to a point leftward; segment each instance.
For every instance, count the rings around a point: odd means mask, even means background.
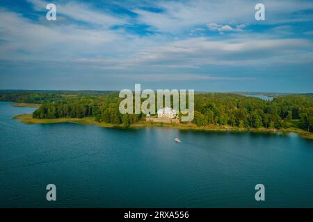
[[[211,41],[205,37],[179,40],[136,53],[125,66],[200,67],[203,65],[264,65],[303,60],[312,42],[303,39],[269,39],[261,36]]]

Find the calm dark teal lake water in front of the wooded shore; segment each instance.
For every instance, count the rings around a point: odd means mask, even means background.
[[[33,110],[0,103],[0,207],[313,207],[313,141],[294,133],[12,119]]]

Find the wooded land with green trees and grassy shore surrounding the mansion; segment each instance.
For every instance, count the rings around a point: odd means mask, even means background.
[[[239,93],[195,94],[191,122],[147,121],[145,114],[120,114],[121,99],[112,91],[0,91],[0,101],[38,108],[13,119],[23,123],[81,123],[100,127],[171,127],[182,130],[298,133],[313,139],[313,95],[273,94],[272,100]],[[169,108],[170,109],[170,108]],[[156,110],[157,113],[157,110]]]

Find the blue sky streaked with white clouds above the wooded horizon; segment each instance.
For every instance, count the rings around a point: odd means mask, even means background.
[[[313,92],[312,40],[312,0],[1,0],[0,89]]]

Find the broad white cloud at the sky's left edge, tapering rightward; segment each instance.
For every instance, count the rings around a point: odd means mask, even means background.
[[[88,53],[119,36],[111,31],[97,31],[72,24],[49,26],[36,24],[15,12],[0,9],[0,58],[61,59],[76,53]],[[10,24],[8,26],[8,24]],[[99,50],[99,49],[98,49]]]

